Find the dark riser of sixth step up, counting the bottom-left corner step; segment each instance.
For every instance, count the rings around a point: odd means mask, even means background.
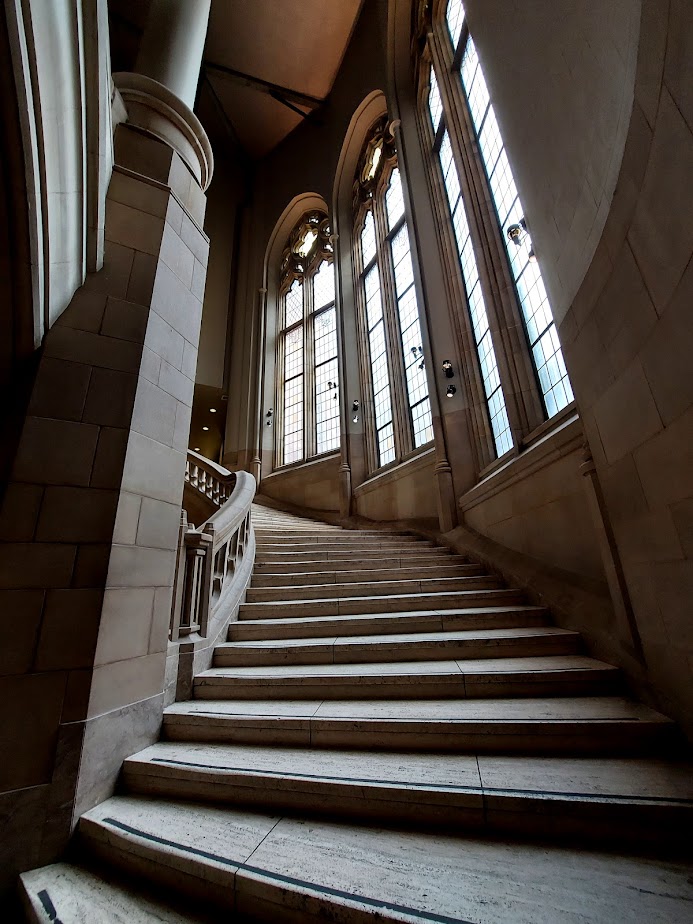
[[[577,637],[520,638],[473,642],[401,643],[364,646],[310,645],[286,650],[217,648],[215,667],[262,667],[280,664],[366,664],[372,661],[447,661],[451,658],[533,658],[582,653]]]

